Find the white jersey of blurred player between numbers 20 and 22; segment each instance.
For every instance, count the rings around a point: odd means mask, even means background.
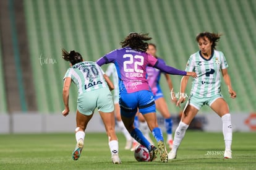
[[[114,83],[114,96],[119,96],[119,86],[118,86],[118,75],[116,71],[116,66],[113,63],[110,63],[105,72],[108,77],[112,76]]]

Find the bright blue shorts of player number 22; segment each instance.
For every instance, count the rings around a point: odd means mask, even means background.
[[[124,117],[134,117],[138,111],[142,114],[155,113],[156,105],[153,93],[148,90],[127,93],[122,91],[119,97],[121,115]]]

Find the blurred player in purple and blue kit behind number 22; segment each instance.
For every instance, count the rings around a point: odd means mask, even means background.
[[[159,62],[162,62],[165,64],[164,60],[156,56],[156,45],[153,43],[148,44],[147,53],[151,54],[153,57],[156,57]],[[166,101],[164,100],[163,92],[160,87],[160,77],[161,77],[161,71],[158,69],[155,69],[153,67],[147,67],[147,80],[148,85],[151,88],[151,91],[155,98],[155,104],[156,104],[156,110],[160,112],[160,114],[164,117],[164,125],[166,127],[166,133],[167,133],[167,144],[169,148],[171,149],[173,147],[173,135],[172,135],[172,129],[173,129],[173,121],[171,119],[171,114],[169,113],[168,106],[166,104]],[[170,91],[173,91],[173,83],[171,82],[171,78],[169,77],[169,74],[164,74],[166,78],[166,82],[168,83],[168,87]],[[171,98],[173,103],[176,103],[176,98]],[[149,136],[149,130],[147,128],[147,122],[145,122],[145,119],[143,119],[143,116],[138,115],[138,118],[135,117],[135,120],[138,119],[139,123],[135,123],[136,125],[140,125],[140,129],[143,132],[143,135],[145,135],[146,138],[150,138]],[[132,150],[134,150],[137,147],[137,142],[134,142]]]

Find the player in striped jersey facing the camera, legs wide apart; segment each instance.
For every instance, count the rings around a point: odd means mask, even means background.
[[[225,143],[224,158],[232,158],[232,125],[231,114],[226,101],[221,95],[221,74],[224,82],[228,86],[231,98],[236,98],[236,92],[231,86],[228,74],[228,63],[221,51],[216,50],[216,43],[220,35],[216,33],[203,32],[196,37],[199,51],[192,54],[187,62],[186,71],[195,71],[197,79],[192,82],[192,89],[187,105],[182,113],[182,119],[174,135],[173,149],[169,152],[168,158],[174,159],[177,149],[184,138],[187,127],[204,104],[210,106],[223,122],[223,136]],[[185,93],[189,77],[184,76],[181,80],[181,93]],[[177,106],[186,101],[181,95],[177,101]]]

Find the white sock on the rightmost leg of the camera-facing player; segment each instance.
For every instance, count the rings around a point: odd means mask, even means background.
[[[231,150],[232,144],[232,124],[231,124],[231,114],[224,114],[222,117],[222,130],[225,142],[225,150]]]

